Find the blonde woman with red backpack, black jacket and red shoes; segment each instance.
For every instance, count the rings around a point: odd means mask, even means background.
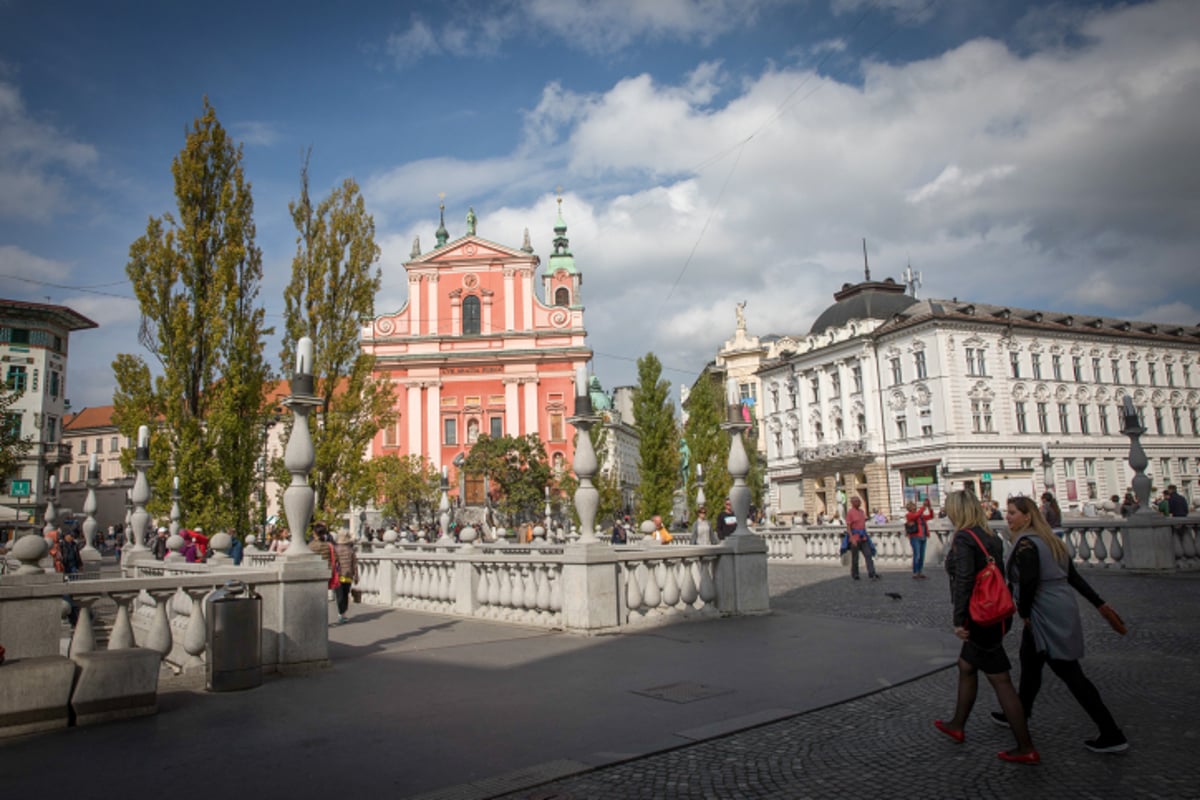
[[[1002,561],[1004,546],[1000,536],[988,527],[983,506],[970,492],[952,492],[946,498],[944,509],[955,528],[946,557],[946,572],[950,576],[950,597],[954,601],[954,634],[962,639],[962,650],[959,652],[959,691],[954,717],[949,722],[935,720],[934,726],[956,742],[961,744],[966,739],[964,729],[974,706],[979,673],[983,672],[1016,738],[1016,748],[1002,750],[996,753],[997,758],[1014,764],[1038,764],[1042,758],[1033,748],[1021,699],[1009,676],[1012,664],[1004,652],[1004,633],[1010,620],[979,625],[968,614],[976,575],[988,565],[989,559],[997,564]]]

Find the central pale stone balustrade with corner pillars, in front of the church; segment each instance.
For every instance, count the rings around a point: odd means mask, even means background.
[[[581,633],[763,613],[766,548],[756,536],[738,539],[745,541],[451,545],[436,552],[395,545],[359,557],[355,589],[370,604]]]

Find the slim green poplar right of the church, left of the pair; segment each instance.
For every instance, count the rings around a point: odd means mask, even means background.
[[[662,379],[662,363],[653,353],[637,360],[634,416],[641,434],[642,461],[637,487],[637,516],[661,515],[671,524],[671,505],[679,483],[679,427],[671,404],[671,384]]]

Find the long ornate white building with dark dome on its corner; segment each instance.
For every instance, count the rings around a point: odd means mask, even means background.
[[[894,515],[972,488],[1085,510],[1123,495],[1126,395],[1156,491],[1189,499],[1200,455],[1200,329],[922,300],[888,279],[845,285],[809,336],[758,372],[772,507],[832,513],[850,495]]]

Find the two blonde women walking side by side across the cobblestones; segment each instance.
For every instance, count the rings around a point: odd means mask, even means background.
[[[1043,507],[1045,504],[1043,498]],[[1028,720],[1042,687],[1043,669],[1049,666],[1099,729],[1099,735],[1086,740],[1085,746],[1099,753],[1126,750],[1129,745],[1124,734],[1079,664],[1084,655],[1084,633],[1074,593],[1094,606],[1118,633],[1126,632],[1124,622],[1075,570],[1066,545],[1055,535],[1043,509],[1028,498],[1008,500],[1004,518],[1012,547],[1007,563],[1003,543],[989,528],[984,509],[973,494],[952,492],[946,499],[946,512],[955,528],[946,571],[954,604],[954,633],[962,639],[962,649],[954,716],[944,722],[935,720],[935,727],[955,742],[966,740],[966,723],[982,672],[1001,706],[991,714],[991,720],[1012,729],[1016,744],[997,757],[1016,764],[1038,764],[1040,756],[1033,746]],[[985,625],[970,614],[977,576],[989,564],[1004,564],[1021,625],[1021,675],[1016,688],[1003,645],[1012,616]]]

